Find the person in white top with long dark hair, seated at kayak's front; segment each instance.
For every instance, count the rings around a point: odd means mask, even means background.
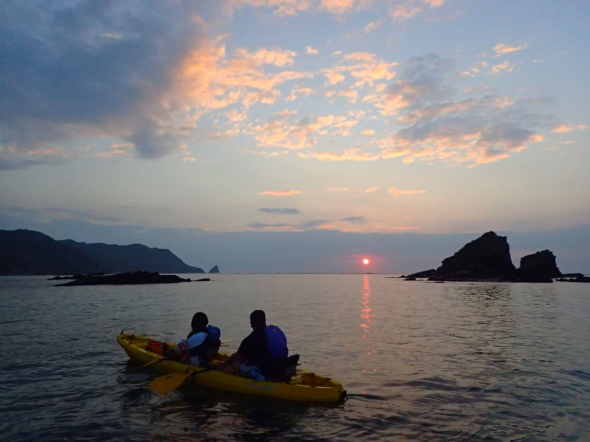
[[[206,365],[219,351],[221,331],[208,324],[209,318],[203,312],[192,317],[191,332],[178,342],[179,358],[184,364]]]

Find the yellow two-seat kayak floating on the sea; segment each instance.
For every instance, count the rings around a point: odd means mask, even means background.
[[[206,385],[219,390],[271,396],[293,401],[341,402],[346,397],[346,390],[344,390],[340,382],[310,371],[297,369],[296,374],[291,375],[289,380],[282,382],[257,381],[165,359],[163,355],[153,352],[152,347],[148,346],[148,342],[150,345],[159,342],[172,347],[174,345],[172,342],[163,342],[154,338],[124,333],[117,336],[117,342],[133,361],[140,364],[149,364],[151,362],[149,367],[166,374],[186,374],[186,381],[194,384]],[[230,355],[219,352],[211,361],[211,365],[225,361],[228,357]]]

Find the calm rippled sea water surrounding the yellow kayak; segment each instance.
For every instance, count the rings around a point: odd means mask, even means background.
[[[388,276],[94,287],[1,277],[0,440],[590,440],[589,284]],[[156,395],[158,372],[136,370],[115,340],[122,329],[177,339],[204,311],[238,345],[255,308],[303,368],[342,382],[346,403],[191,385]]]

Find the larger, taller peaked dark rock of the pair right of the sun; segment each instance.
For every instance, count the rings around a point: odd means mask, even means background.
[[[428,281],[497,281],[514,276],[506,236],[487,232],[442,260]]]

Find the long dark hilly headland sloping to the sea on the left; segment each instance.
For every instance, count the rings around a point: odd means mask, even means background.
[[[205,273],[168,249],[55,240],[35,230],[0,230],[0,250],[0,275]]]

